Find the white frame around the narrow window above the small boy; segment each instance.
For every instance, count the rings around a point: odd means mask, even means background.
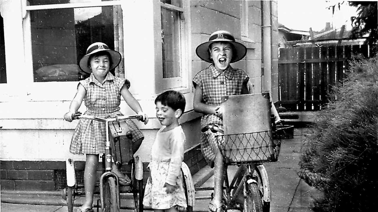
[[[189,52],[190,44],[190,2],[183,0],[182,8],[174,5],[169,5],[160,0],[155,0],[154,8],[154,25],[155,25],[155,77],[156,77],[156,93],[166,91],[168,89],[175,89],[179,91],[189,91],[189,73],[191,70],[191,55]],[[163,78],[163,49],[161,47],[161,8],[180,12],[180,49],[179,49],[179,65],[180,77]]]

